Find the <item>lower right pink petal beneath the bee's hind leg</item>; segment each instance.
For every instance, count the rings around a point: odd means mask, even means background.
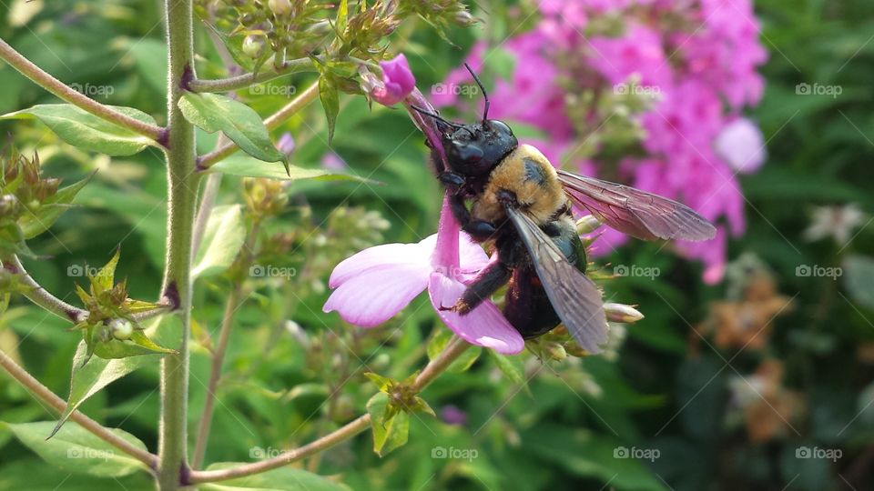
[[[525,342],[519,332],[507,322],[498,307],[492,302],[483,302],[470,313],[459,316],[441,310],[450,307],[462,296],[464,285],[439,273],[432,273],[428,295],[442,321],[463,340],[477,346],[485,346],[503,355],[515,355],[523,350]]]

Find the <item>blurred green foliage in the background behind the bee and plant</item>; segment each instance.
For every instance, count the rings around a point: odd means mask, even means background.
[[[9,19],[24,2],[2,9],[0,36],[37,65],[68,84],[111,86],[101,102],[165,114],[165,53],[158,2],[46,2],[25,25]],[[500,35],[506,5],[489,2],[488,35]],[[806,416],[796,431],[767,444],[750,444],[742,426],[727,423],[728,378],[748,374],[751,356],[732,358],[702,348],[687,356],[690,325],[705,318],[710,302],[726,295],[724,286],[703,286],[700,270],[658,245],[634,243],[609,260],[614,264],[657,266],[655,281],[625,278],[611,294],[638,304],[645,320],[628,328],[615,362],[603,358],[565,360],[558,365],[513,360],[524,368],[527,388],[513,383],[483,354],[470,369],[448,374],[425,393],[438,413],[460,407],[464,426],[439,418],[411,417],[410,443],[380,458],[370,436],[362,435],[305,464],[321,475],[338,475],[353,489],[838,489],[874,483],[874,366],[859,361],[857,349],[874,341],[870,276],[850,286],[845,260],[874,253],[868,226],[845,248],[802,237],[814,205],[856,203],[874,215],[871,194],[874,158],[872,5],[857,1],[760,0],[767,93],[753,117],[768,139],[769,158],[760,172],[744,176],[747,234],[733,241],[729,257],[753,252],[773,269],[777,287],[795,296],[796,308],[775,320],[770,356],[786,366],[788,387],[803,395]],[[17,15],[17,14],[16,14]],[[401,29],[397,49],[410,59],[420,87],[429,87],[462,60],[453,48],[422,25]],[[452,32],[469,46],[476,30]],[[205,30],[198,50],[208,56],[201,75],[219,75]],[[500,57],[498,57],[500,58]],[[501,73],[501,63],[494,66]],[[489,78],[490,75],[486,75]],[[312,77],[287,82],[302,88]],[[838,97],[798,96],[799,83],[840,85]],[[56,102],[9,66],[0,66],[0,113]],[[285,95],[241,94],[261,115]],[[354,174],[369,183],[305,182],[289,189],[287,211],[262,235],[294,233],[292,246],[274,266],[305,274],[284,284],[261,285],[239,309],[219,387],[219,404],[207,453],[208,462],[249,461],[253,448],[287,448],[357,416],[375,391],[362,374],[374,371],[403,378],[425,360],[435,321],[427,300],[418,298],[403,315],[373,330],[345,326],[321,313],[330,267],[361,249],[363,235],[350,220],[331,215],[338,205],[375,210],[391,223],[382,240],[414,242],[436,228],[440,190],[426,165],[422,135],[399,110],[368,108],[361,97],[341,99],[332,148],[318,104],[283,129],[298,148],[292,163],[320,165],[322,155],[340,155]],[[128,278],[130,296],[153,299],[160,283],[165,234],[165,170],[154,149],[113,158],[88,154],[60,142],[43,125],[3,122],[23,150],[38,149],[44,173],[65,183],[98,170],[71,210],[30,243],[46,256],[25,266],[57,296],[76,303],[74,265],[100,266],[121,244],[117,277]],[[214,135],[199,135],[208,151]],[[240,201],[239,179],[222,183],[220,204]],[[333,212],[336,214],[336,212]],[[358,213],[358,215],[355,215]],[[352,212],[356,220],[361,212]],[[295,232],[297,231],[297,232]],[[310,239],[322,237],[323,242]],[[321,239],[320,239],[321,240]],[[356,242],[359,241],[359,242]],[[365,242],[367,242],[365,241]],[[321,246],[317,246],[321,244]],[[269,260],[269,259],[266,259]],[[838,281],[798,277],[799,265],[844,266]],[[191,360],[191,427],[196,427],[208,380],[204,341],[215,336],[230,283],[223,277],[198,283],[195,305],[200,338]],[[306,333],[310,349],[292,336],[288,319]],[[0,318],[0,348],[61,396],[69,390],[70,364],[79,336],[67,323],[16,298]],[[198,333],[196,333],[197,335]],[[214,339],[213,339],[214,342]],[[311,346],[320,346],[311,348]],[[725,360],[731,359],[728,368]],[[158,364],[149,364],[91,397],[82,410],[108,426],[121,427],[147,447],[157,445]],[[326,401],[329,400],[331,402]],[[0,377],[0,420],[52,420],[47,411],[9,378]],[[657,448],[655,461],[614,458],[615,448]],[[793,458],[799,446],[840,448],[837,462]],[[434,458],[435,448],[476,450],[476,458]],[[147,489],[145,476],[107,479],[46,465],[0,427],[0,489]]]

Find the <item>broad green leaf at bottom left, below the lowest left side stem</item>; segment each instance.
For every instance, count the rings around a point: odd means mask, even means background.
[[[51,421],[4,423],[4,426],[9,428],[21,443],[43,457],[43,460],[69,472],[121,477],[138,470],[148,470],[147,466],[136,458],[122,453],[115,446],[107,444],[76,424],[67,425],[58,431],[54,438],[46,439],[46,435],[54,425]],[[146,450],[146,446],[136,436],[115,428],[108,431],[127,443]]]

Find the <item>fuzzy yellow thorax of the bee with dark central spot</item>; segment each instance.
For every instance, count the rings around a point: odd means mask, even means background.
[[[566,200],[553,165],[531,145],[519,145],[494,168],[485,191],[473,202],[474,219],[492,223],[504,220],[503,205],[496,195],[501,190],[512,191],[520,211],[537,224],[549,222]]]

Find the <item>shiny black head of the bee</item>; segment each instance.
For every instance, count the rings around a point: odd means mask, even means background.
[[[517,146],[513,130],[497,119],[461,125],[443,137],[452,171],[465,176],[487,175]]]

